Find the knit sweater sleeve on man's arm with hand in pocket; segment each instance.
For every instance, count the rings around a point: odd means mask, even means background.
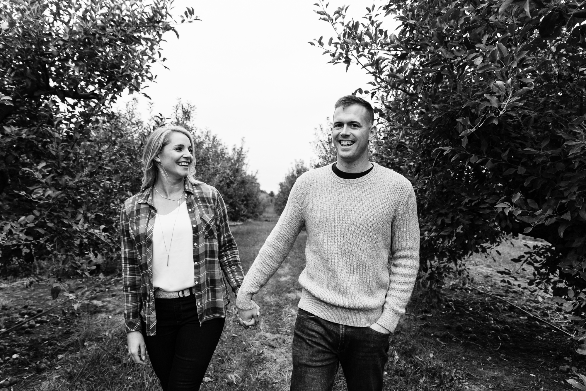
[[[389,270],[389,290],[383,313],[376,323],[393,332],[413,293],[419,270],[419,221],[417,199],[409,184],[406,198],[397,208],[391,228],[392,265]]]

